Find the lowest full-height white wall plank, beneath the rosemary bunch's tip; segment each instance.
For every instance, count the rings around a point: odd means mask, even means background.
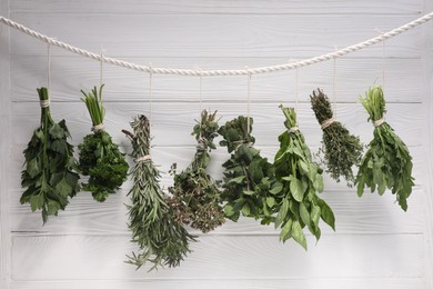
[[[309,237],[308,252],[274,236],[210,236],[192,245],[193,252],[181,267],[152,272],[123,262],[134,249],[127,237],[14,236],[12,241],[14,281],[424,276],[422,235],[324,236],[316,246]]]

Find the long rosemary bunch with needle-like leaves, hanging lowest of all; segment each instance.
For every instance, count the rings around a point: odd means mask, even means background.
[[[148,261],[153,263],[151,270],[177,267],[190,252],[189,243],[194,237],[174,220],[167,195],[159,185],[160,171],[150,157],[149,120],[140,116],[133,119],[131,127],[133,133],[122,130],[131,140],[131,157],[135,161],[131,171],[133,186],[128,193],[131,198],[128,227],[140,252],[132,252],[127,262],[137,269]]]

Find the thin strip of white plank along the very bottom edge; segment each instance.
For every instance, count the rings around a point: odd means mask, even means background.
[[[190,288],[225,288],[225,289],[285,289],[285,288],[315,288],[315,289],[424,289],[423,278],[314,278],[314,279],[258,279],[216,280],[216,279],[187,279],[187,280],[142,280],[142,281],[46,281],[46,282],[12,282],[11,289],[190,289]]]

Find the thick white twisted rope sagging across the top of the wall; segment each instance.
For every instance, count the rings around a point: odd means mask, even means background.
[[[326,54],[322,54],[319,57],[313,57],[310,59],[301,60],[301,61],[298,61],[296,63],[284,63],[284,64],[276,64],[276,66],[270,66],[270,67],[249,68],[249,69],[242,69],[242,70],[201,70],[201,71],[198,71],[197,69],[173,69],[173,68],[154,68],[154,67],[150,68],[148,66],[139,66],[139,64],[128,62],[128,61],[122,61],[122,60],[119,60],[115,58],[101,57],[101,54],[99,54],[99,53],[93,53],[93,52],[87,51],[84,49],[70,46],[66,42],[62,42],[62,41],[59,41],[54,38],[50,38],[48,36],[39,33],[34,30],[31,30],[31,29],[29,29],[20,23],[17,23],[17,22],[14,22],[8,18],[1,17],[1,16],[0,16],[0,22],[4,23],[11,28],[14,28],[21,32],[24,32],[26,34],[32,36],[39,40],[42,40],[47,43],[50,43],[52,46],[69,50],[73,53],[84,56],[84,57],[88,57],[88,58],[91,58],[91,59],[94,59],[98,61],[103,61],[103,62],[107,62],[110,64],[114,64],[114,66],[119,66],[119,67],[123,67],[123,68],[128,68],[128,69],[132,69],[132,70],[138,70],[138,71],[158,73],[158,74],[213,77],[213,76],[251,76],[251,74],[290,70],[290,69],[295,69],[295,68],[300,68],[300,67],[311,66],[314,63],[319,63],[319,62],[323,62],[323,61],[331,60],[334,58],[339,58],[339,57],[349,54],[351,52],[354,52],[356,50],[361,50],[361,49],[364,49],[366,47],[376,44],[376,43],[382,42],[386,39],[390,39],[394,36],[397,36],[397,34],[403,33],[407,30],[411,30],[412,28],[421,26],[421,24],[427,22],[429,20],[431,20],[432,18],[433,18],[433,11],[414,20],[414,21],[411,21],[404,26],[395,28],[389,32],[382,33],[375,38],[369,39],[366,41],[360,42],[360,43],[354,44],[354,46],[350,46],[350,47],[336,50],[336,51],[331,52],[331,53],[326,53]]]

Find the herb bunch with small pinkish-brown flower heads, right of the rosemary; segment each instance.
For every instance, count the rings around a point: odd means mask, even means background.
[[[180,173],[175,172],[175,163],[172,166],[174,185],[169,188],[172,195],[169,205],[177,221],[202,232],[209,232],[224,223],[220,188],[207,172],[211,160],[209,152],[215,149],[213,139],[218,137],[219,126],[215,116],[216,111],[201,112],[201,121],[194,126],[191,133],[199,142],[194,160]]]

